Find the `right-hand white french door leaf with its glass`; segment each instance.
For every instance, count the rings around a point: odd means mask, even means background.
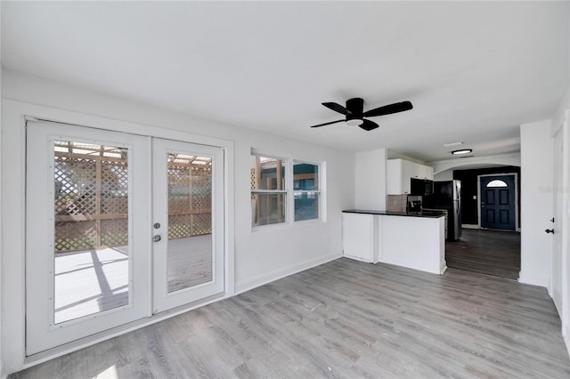
[[[152,139],[153,312],[224,293],[224,150]]]

